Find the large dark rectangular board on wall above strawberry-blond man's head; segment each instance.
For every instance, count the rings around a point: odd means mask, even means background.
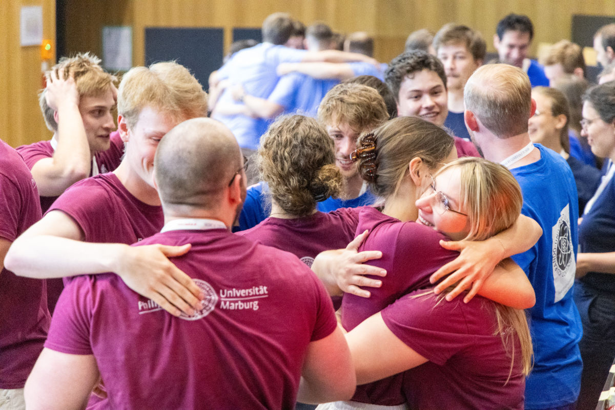
[[[177,60],[194,74],[205,90],[209,75],[222,65],[223,55],[222,28],[145,29],[145,64]]]

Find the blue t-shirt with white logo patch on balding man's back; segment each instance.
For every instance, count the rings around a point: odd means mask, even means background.
[[[573,301],[579,216],[573,173],[565,160],[534,144],[541,159],[510,170],[523,193],[523,215],[542,227],[538,242],[513,259],[536,292],[529,309],[534,368],[526,381],[525,408],[574,403],[579,395],[582,326]]]

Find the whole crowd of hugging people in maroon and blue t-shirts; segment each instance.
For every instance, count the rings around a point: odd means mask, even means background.
[[[615,82],[528,59],[522,15],[485,65],[467,26],[384,66],[301,27],[210,95],[174,61],[47,73],[52,140],[0,144],[0,409],[595,408]]]

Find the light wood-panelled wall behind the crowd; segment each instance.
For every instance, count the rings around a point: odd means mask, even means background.
[[[1,0],[0,77],[7,84],[0,100],[0,138],[16,146],[48,138],[36,103],[40,87],[38,47],[19,47],[19,8],[44,7],[44,36],[55,36],[55,0]],[[376,40],[376,58],[389,61],[403,49],[411,31],[437,31],[448,22],[480,30],[491,38],[498,20],[510,12],[527,14],[536,26],[531,54],[541,42],[570,37],[573,14],[615,15],[613,0],[66,0],[68,52],[101,54],[105,25],[133,26],[133,64],[145,61],[145,28],[222,27],[225,45],[233,27],[258,27],[276,11],[290,12],[306,24],[322,20],[336,31],[367,31]]]

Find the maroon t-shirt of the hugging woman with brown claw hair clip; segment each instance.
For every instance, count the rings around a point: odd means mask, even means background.
[[[370,231],[370,235],[359,251],[382,251],[381,259],[366,263],[386,269],[387,275],[384,278],[373,277],[381,279],[383,284],[380,288],[365,288],[370,291],[370,298],[344,294],[342,325],[348,331],[403,294],[429,286],[429,276],[458,256],[457,252],[440,246],[440,239],[446,237],[432,227],[416,222],[401,222],[376,208],[365,207],[359,211],[356,232],[359,234],[365,229]],[[402,374],[397,374],[357,386],[352,400],[383,406],[404,403],[402,379]]]

